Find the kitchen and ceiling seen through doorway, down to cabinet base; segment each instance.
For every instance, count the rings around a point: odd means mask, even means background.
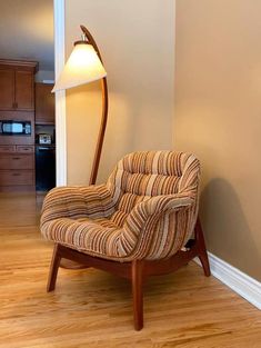
[[[0,3],[0,191],[49,190],[56,186],[53,1]]]

